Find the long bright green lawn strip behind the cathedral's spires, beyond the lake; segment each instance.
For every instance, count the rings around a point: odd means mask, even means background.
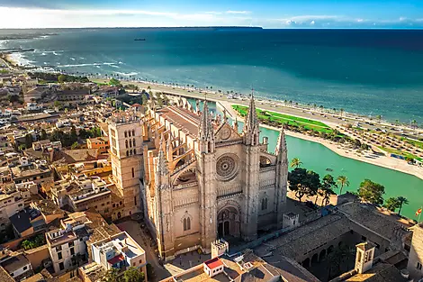
[[[245,105],[232,105],[232,108],[238,112],[241,116],[246,116],[248,107]],[[302,126],[307,130],[315,130],[317,132],[330,133],[333,130],[325,123],[319,121],[309,120],[302,117],[297,117],[288,114],[279,114],[270,111],[256,110],[257,116],[260,120],[267,120],[276,123],[289,123],[291,125]]]

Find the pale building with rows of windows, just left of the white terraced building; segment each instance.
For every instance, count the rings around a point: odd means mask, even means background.
[[[86,260],[85,241],[88,240],[88,232],[84,224],[74,227],[68,224],[65,230],[47,232],[46,239],[56,274],[77,268],[77,260]]]

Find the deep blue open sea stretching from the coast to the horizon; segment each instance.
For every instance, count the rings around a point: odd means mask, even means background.
[[[254,88],[256,96],[423,124],[421,30],[0,30],[7,48],[34,49],[14,59],[46,71],[244,95]]]

